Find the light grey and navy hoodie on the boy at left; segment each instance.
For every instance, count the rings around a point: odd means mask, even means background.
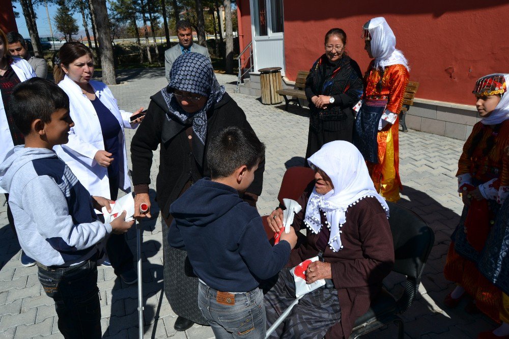
[[[0,165],[19,244],[45,266],[70,266],[97,252],[111,232],[97,220],[89,191],[45,148],[14,147]]]

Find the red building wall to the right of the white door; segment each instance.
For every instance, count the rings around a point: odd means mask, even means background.
[[[323,38],[332,27],[347,33],[349,55],[364,71],[370,62],[360,38],[362,25],[383,16],[409,61],[410,80],[420,82],[418,98],[473,104],[475,80],[509,73],[507,1],[428,0],[382,2],[285,1],[286,75],[294,80],[324,52]],[[246,20],[247,19],[244,19]]]

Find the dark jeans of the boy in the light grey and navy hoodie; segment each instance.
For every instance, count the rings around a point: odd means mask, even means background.
[[[65,338],[101,338],[101,305],[95,259],[66,268],[38,264],[44,292],[55,301],[59,330]]]

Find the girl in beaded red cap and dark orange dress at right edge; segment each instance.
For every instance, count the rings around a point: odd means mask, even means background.
[[[444,268],[445,278],[457,284],[445,297],[445,305],[457,306],[466,293],[473,298],[465,308],[467,312],[479,309],[502,322],[494,331],[480,333],[479,338],[483,339],[509,339],[509,298],[492,283],[491,273],[483,275],[478,270],[479,260],[486,257],[486,249],[490,248],[490,229],[509,193],[507,79],[509,74],[491,74],[476,82],[473,93],[482,120],[474,125],[458,162],[458,191],[465,206],[451,236],[453,242]]]

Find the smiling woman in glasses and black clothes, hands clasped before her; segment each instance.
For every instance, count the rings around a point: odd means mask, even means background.
[[[306,159],[334,140],[352,142],[352,109],[362,96],[359,65],[345,54],[346,33],[331,29],[325,35],[325,53],[313,64],[305,93],[311,109]]]

